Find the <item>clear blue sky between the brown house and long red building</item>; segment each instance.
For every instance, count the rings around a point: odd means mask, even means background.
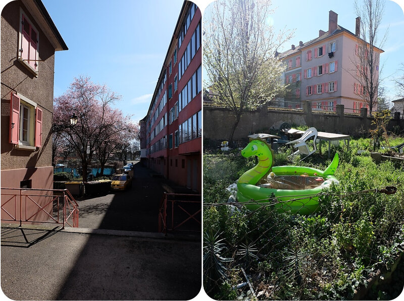
[[[42,0],[69,50],[55,54],[54,96],[89,76],[122,95],[124,114],[142,119],[150,104],[182,0]]]

